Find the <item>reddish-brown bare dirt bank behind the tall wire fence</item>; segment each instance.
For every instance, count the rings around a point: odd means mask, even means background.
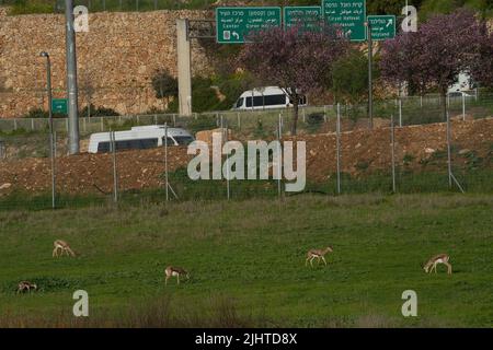
[[[474,152],[492,164],[493,118],[452,121],[452,145],[456,154]],[[286,140],[307,141],[307,174],[311,180],[324,180],[335,172],[335,135],[299,136]],[[426,160],[446,149],[446,125],[433,124],[395,129],[395,158],[408,160],[413,170],[423,168]],[[341,138],[342,171],[353,175],[389,170],[391,163],[390,129],[343,132]],[[186,166],[191,155],[186,148],[170,148],[169,170]],[[454,162],[460,162],[455,159]],[[462,160],[463,161],[463,160]],[[445,170],[444,164],[439,165]],[[445,165],[446,166],[446,165]],[[113,163],[111,154],[80,154],[57,159],[57,187],[60,192],[111,192]],[[126,151],[117,154],[119,187],[157,188],[163,185],[162,149]],[[45,191],[50,188],[49,159],[23,159],[0,162],[0,196],[14,189]]]

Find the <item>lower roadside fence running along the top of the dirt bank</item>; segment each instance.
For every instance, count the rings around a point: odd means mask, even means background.
[[[471,92],[462,95],[452,95],[446,98],[447,108],[451,119],[477,119],[493,116],[493,94],[477,94]],[[367,119],[367,104],[341,105],[342,114],[352,121],[352,127],[369,127]],[[80,115],[79,129],[81,132],[103,132],[126,128],[136,125],[152,125],[170,122],[173,126],[199,128],[219,126],[222,116],[237,131],[246,133],[274,132],[279,115],[283,117],[285,132],[291,127],[291,108],[284,109],[251,109],[251,110],[222,110],[210,113],[194,113],[192,117],[179,114],[146,113],[126,116],[84,117]],[[397,126],[421,125],[445,121],[443,101],[439,95],[424,97],[409,96],[393,100],[376,101],[374,103],[374,124],[378,126],[390,125],[390,116],[395,118]],[[318,132],[326,121],[335,117],[334,105],[300,107],[298,127],[306,132]],[[67,118],[55,118],[55,129],[68,130]],[[0,118],[0,131],[43,131],[47,129],[47,118]],[[323,129],[323,128],[322,128]],[[335,129],[333,130],[335,131]]]

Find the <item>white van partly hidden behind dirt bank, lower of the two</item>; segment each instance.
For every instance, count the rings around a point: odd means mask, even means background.
[[[115,131],[116,150],[144,150],[164,144],[165,128],[162,125],[133,127],[131,130]],[[168,128],[168,145],[186,145],[194,137],[180,128]],[[89,153],[110,152],[110,132],[92,133]]]

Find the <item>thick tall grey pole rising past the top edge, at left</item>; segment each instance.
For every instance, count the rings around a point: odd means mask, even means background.
[[[65,0],[66,57],[68,90],[68,145],[69,154],[79,153],[79,117],[77,92],[76,31],[73,28],[73,1]]]

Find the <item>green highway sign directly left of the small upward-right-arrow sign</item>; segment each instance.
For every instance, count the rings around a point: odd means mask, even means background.
[[[366,0],[322,0],[323,18],[352,42],[366,40]]]

